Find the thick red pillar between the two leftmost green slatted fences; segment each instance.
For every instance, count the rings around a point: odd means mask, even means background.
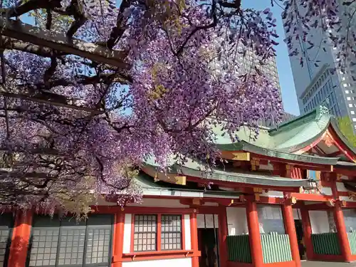
[[[252,264],[254,267],[262,267],[263,253],[256,202],[248,201],[246,203],[246,215],[248,222],[248,239],[250,241]]]

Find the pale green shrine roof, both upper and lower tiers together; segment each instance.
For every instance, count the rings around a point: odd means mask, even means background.
[[[242,127],[241,130],[239,130],[239,142],[235,143],[231,143],[229,135],[224,135],[219,125],[214,128],[214,133],[215,142],[219,150],[244,150],[256,155],[287,159],[294,162],[337,165],[339,160],[337,157],[316,157],[293,153],[317,140],[318,137],[323,135],[325,130],[328,129],[329,125],[333,127],[342,142],[356,154],[355,148],[352,148],[347,142],[346,138],[338,130],[337,123],[333,117],[331,117],[323,107],[308,114],[295,117],[295,119],[278,125],[277,127],[269,129],[265,127],[260,130],[256,140],[253,139],[254,132],[247,127]],[[155,159],[148,159],[145,164],[159,171],[159,168],[155,164]],[[169,173],[200,177],[202,179],[258,185],[275,185],[278,187],[301,187],[308,186],[309,183],[308,179],[296,180],[276,177],[270,174],[261,174],[260,172],[241,173],[236,172],[236,169],[209,169],[209,171],[206,171],[204,164],[189,160],[184,166],[180,166],[174,162],[173,157],[169,160],[169,165],[171,166]]]

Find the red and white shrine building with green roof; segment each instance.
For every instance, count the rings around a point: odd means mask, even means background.
[[[216,128],[223,161],[169,173],[148,160],[140,204],[93,206],[86,221],[0,216],[0,267],[300,267],[356,261],[356,149],[323,108],[278,127]]]

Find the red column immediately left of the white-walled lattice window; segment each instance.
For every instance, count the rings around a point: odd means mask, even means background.
[[[122,251],[124,249],[124,227],[125,214],[120,212],[115,216],[112,267],[122,266]]]

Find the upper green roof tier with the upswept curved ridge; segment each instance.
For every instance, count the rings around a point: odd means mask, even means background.
[[[248,127],[242,127],[237,133],[239,142],[231,143],[230,137],[224,135],[221,127],[216,127],[216,145],[219,150],[236,151],[244,150],[259,155],[278,157],[298,162],[310,162],[315,164],[336,164],[338,158],[313,157],[309,155],[295,155],[293,152],[310,145],[323,135],[329,125],[333,127],[342,142],[356,154],[346,138],[338,130],[337,122],[328,111],[319,107],[305,115],[295,117],[289,122],[284,122],[273,128],[260,130],[256,140],[253,139],[254,131]]]

